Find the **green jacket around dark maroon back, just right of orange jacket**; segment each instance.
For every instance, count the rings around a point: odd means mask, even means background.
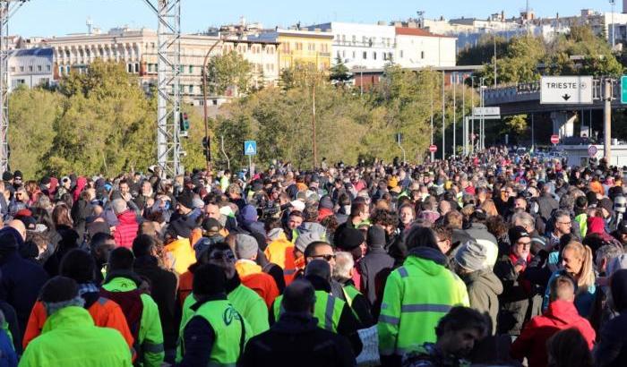
[[[114,277],[102,287],[109,292],[130,292],[137,289],[132,279],[126,277]],[[163,349],[163,330],[159,319],[159,307],[149,294],[142,294],[143,310],[140,320],[138,344],[142,351],[142,363],[144,367],[159,367],[163,363],[166,354]]]

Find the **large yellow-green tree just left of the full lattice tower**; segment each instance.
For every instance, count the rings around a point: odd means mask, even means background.
[[[67,96],[44,156],[52,174],[119,172],[154,163],[156,108],[124,64],[96,60],[61,82]]]

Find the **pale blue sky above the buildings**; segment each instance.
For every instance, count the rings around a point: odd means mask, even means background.
[[[151,0],[155,3],[157,0]],[[376,21],[406,20],[425,11],[425,18],[446,19],[477,17],[485,19],[491,13],[505,12],[506,17],[518,15],[525,9],[525,0],[181,0],[183,32],[206,30],[210,26],[246,21],[260,21],[264,27],[288,27],[327,21],[374,23]],[[608,0],[529,0],[537,16],[554,17],[579,14],[592,8],[609,12]],[[622,2],[616,1],[621,12]],[[30,0],[10,21],[10,34],[24,37],[62,36],[87,31],[90,18],[95,27],[109,30],[117,26],[156,29],[156,16],[144,0]]]

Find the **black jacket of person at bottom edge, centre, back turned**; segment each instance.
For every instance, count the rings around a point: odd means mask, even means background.
[[[311,315],[285,312],[270,330],[253,337],[241,365],[351,367],[355,356],[346,337],[317,327]]]

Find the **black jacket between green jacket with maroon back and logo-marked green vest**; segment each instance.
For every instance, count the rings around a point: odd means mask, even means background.
[[[154,256],[140,256],[135,259],[133,269],[137,275],[150,280],[150,296],[159,306],[159,319],[163,329],[164,346],[166,349],[176,348],[178,324],[176,317],[176,275],[159,267]]]

